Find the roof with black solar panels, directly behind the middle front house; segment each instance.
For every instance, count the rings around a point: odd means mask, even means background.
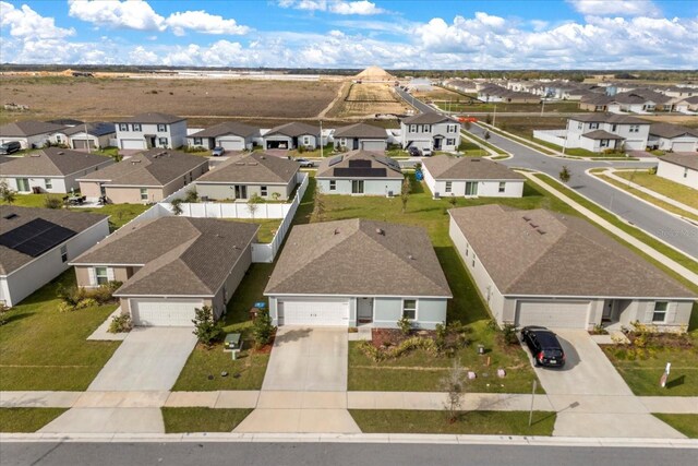
[[[339,168],[338,171],[337,168]],[[386,157],[378,152],[358,150],[322,159],[315,172],[315,178],[402,179],[405,176],[399,164],[390,157]]]

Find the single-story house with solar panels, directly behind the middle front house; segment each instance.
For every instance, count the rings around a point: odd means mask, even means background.
[[[404,179],[397,162],[368,151],[325,158],[315,174],[317,187],[325,194],[398,195]]]

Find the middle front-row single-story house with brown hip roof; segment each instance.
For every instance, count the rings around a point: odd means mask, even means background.
[[[264,296],[275,325],[419,328],[453,297],[423,228],[359,218],[294,226]]]

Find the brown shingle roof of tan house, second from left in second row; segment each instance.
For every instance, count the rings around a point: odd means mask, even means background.
[[[104,181],[105,186],[161,187],[202,165],[208,165],[208,160],[197,155],[152,148],[82,177],[79,181]]]

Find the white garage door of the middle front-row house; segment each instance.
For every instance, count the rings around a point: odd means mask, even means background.
[[[279,325],[348,326],[349,300],[279,300]]]

